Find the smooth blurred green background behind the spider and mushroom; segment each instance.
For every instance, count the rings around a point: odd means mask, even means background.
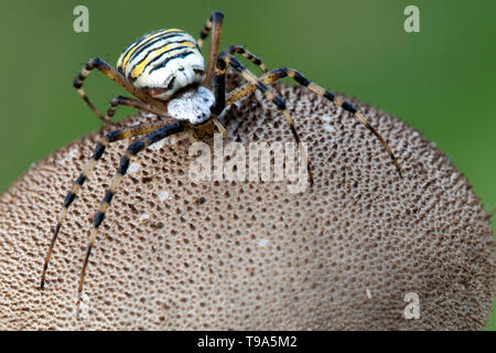
[[[73,30],[77,4],[89,9],[89,33]],[[420,9],[420,33],[403,30],[409,4]],[[72,87],[89,57],[114,65],[127,44],[161,28],[196,36],[215,9],[226,14],[222,46],[244,44],[269,67],[299,68],[408,121],[435,141],[486,210],[494,210],[494,0],[0,0],[0,192],[32,162],[99,127]],[[100,110],[125,94],[98,73],[86,89]],[[496,329],[495,313],[486,329]]]

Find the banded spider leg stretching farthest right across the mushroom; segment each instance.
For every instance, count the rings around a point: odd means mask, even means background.
[[[402,176],[401,174],[401,168],[399,165],[398,159],[395,157],[395,153],[392,153],[391,149],[389,148],[386,140],[377,132],[377,130],[368,122],[368,120],[355,108],[349,101],[343,100],[339,97],[336,97],[333,93],[330,90],[319,86],[314,82],[309,81],[305,76],[303,76],[300,72],[295,71],[294,68],[289,67],[281,67],[276,68],[263,76],[260,77],[260,81],[267,85],[273,84],[276,81],[283,78],[283,77],[290,77],[294,79],[298,84],[309,88],[311,92],[325,97],[327,100],[336,104],[337,106],[342,107],[344,110],[349,111],[354,115],[354,117],[362,122],[382,145],[385,150],[388,152],[389,158],[392,160],[392,163],[396,167],[396,170],[398,171],[398,174]],[[234,101],[242,98],[246,95],[249,95],[256,89],[254,84],[246,84],[245,86],[241,86],[237,89],[235,89],[229,97],[227,98],[226,105],[230,105]]]

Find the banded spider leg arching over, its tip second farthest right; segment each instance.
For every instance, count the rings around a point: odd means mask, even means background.
[[[313,185],[313,173],[312,168],[310,165],[309,157],[306,154],[306,151],[304,150],[301,141],[300,136],[298,135],[298,131],[294,127],[293,119],[291,118],[291,115],[285,106],[285,101],[281,96],[277,95],[277,93],[273,92],[273,88],[266,85],[263,82],[261,82],[257,76],[255,76],[250,71],[248,71],[245,66],[239,63],[239,61],[234,57],[231,54],[228,53],[220,53],[217,57],[217,64],[215,67],[215,79],[214,79],[214,94],[215,94],[215,105],[212,107],[212,111],[216,115],[219,115],[224,108],[226,103],[226,72],[228,66],[233,66],[236,72],[239,73],[250,85],[254,85],[257,89],[259,89],[267,99],[271,100],[276,106],[282,111],[282,115],[285,118],[285,121],[288,122],[291,133],[293,135],[294,140],[296,141],[300,153],[304,160],[304,163],[306,165],[306,171],[309,173],[309,182],[310,185]]]

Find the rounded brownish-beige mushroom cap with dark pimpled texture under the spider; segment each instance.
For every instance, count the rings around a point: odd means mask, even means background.
[[[308,142],[314,186],[194,182],[187,139],[147,149],[100,227],[80,321],[76,289],[91,217],[129,141],[111,145],[71,207],[44,291],[51,228],[101,133],[33,164],[0,199],[0,329],[484,328],[495,242],[464,176],[419,132],[357,104],[398,156],[400,179],[348,113],[304,88],[280,89]],[[225,124],[227,140],[292,141],[259,94],[233,106]],[[419,298],[418,320],[405,315],[408,293]]]

